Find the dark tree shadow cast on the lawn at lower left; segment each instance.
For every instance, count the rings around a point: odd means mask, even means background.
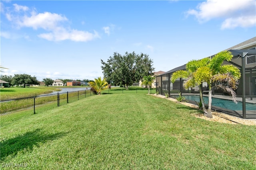
[[[18,135],[17,137],[1,141],[0,160],[4,161],[9,155],[16,156],[19,151],[24,149],[32,151],[33,147],[38,146],[39,143],[54,140],[64,136],[65,134],[66,133],[45,134],[40,129],[36,129],[34,131]]]

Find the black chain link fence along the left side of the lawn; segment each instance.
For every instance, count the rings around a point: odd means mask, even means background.
[[[82,98],[95,95],[91,90],[80,90],[58,94],[49,94],[29,98],[19,98],[13,100],[0,101],[0,121],[1,126],[21,117],[41,113],[54,107],[75,102]]]

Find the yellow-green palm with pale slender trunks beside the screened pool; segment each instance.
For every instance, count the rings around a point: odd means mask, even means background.
[[[236,90],[238,80],[241,76],[240,70],[231,64],[223,65],[224,61],[231,61],[232,57],[233,55],[230,51],[222,51],[216,54],[212,59],[206,58],[204,59],[205,61],[202,61],[201,63],[200,61],[194,61],[187,66],[192,68],[189,74],[187,74],[189,75],[187,76],[188,80],[198,86],[200,86],[202,82],[207,82],[208,84],[208,111],[204,108],[204,115],[206,115],[206,117],[212,118],[212,90],[214,88],[222,89],[224,92],[229,93],[232,96],[233,101],[237,103],[234,90]],[[202,91],[200,90],[200,97],[201,96]],[[204,100],[201,99],[201,101],[204,103]]]

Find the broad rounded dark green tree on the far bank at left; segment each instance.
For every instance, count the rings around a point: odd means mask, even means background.
[[[17,86],[24,86],[24,88],[26,87],[26,84],[31,85],[38,85],[39,82],[36,79],[36,76],[31,76],[28,74],[14,74],[14,77],[12,79],[12,84],[17,85]]]

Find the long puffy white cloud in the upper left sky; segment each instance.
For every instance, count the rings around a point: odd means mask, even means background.
[[[86,42],[100,38],[96,31],[90,33],[88,31],[70,29],[69,26],[64,27],[63,24],[68,23],[68,18],[61,14],[50,12],[37,13],[35,9],[31,10],[26,6],[18,4],[14,4],[14,10],[9,10],[6,13],[6,18],[12,21],[18,28],[31,27],[34,30],[44,29],[48,31],[38,35],[38,37],[48,41],[71,40]],[[3,36],[8,37],[8,34]]]

